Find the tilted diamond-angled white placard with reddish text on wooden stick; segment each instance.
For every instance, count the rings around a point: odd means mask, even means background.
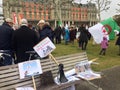
[[[47,37],[35,45],[33,48],[41,58],[44,58],[49,55],[56,47]]]

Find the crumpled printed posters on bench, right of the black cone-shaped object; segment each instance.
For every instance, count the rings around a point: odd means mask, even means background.
[[[81,61],[75,65],[77,76],[86,80],[101,78],[100,74],[93,72],[88,60]]]

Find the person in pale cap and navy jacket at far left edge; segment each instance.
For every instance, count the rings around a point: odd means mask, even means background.
[[[6,18],[5,22],[0,26],[0,52],[4,53],[4,59],[0,66],[12,64],[12,29],[13,21]],[[6,55],[5,55],[6,54]],[[8,55],[8,56],[7,56]],[[1,62],[0,62],[1,63]]]

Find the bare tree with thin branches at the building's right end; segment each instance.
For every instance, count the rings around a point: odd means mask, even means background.
[[[107,11],[110,8],[110,0],[90,0],[88,3],[95,3],[98,9],[98,20],[101,21],[101,12]]]

